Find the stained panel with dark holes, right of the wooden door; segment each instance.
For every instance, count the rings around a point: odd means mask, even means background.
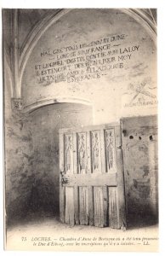
[[[122,119],[121,125],[128,215],[132,214],[134,218],[141,216],[149,220],[152,216],[156,221],[158,218],[156,116]]]

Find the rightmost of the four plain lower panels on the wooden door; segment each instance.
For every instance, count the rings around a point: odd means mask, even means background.
[[[119,229],[119,211],[117,187],[109,187],[109,225],[112,229]]]

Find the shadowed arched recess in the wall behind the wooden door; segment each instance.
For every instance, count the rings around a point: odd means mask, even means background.
[[[83,104],[52,104],[31,113],[36,180],[31,201],[35,213],[59,215],[59,130],[87,125],[93,125],[93,109]]]

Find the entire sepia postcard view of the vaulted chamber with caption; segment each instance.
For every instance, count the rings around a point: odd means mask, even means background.
[[[157,9],[1,11],[5,250],[157,252]]]

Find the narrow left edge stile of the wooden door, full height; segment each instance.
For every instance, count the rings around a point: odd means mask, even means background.
[[[65,187],[62,185],[62,177],[65,175],[64,170],[64,134],[60,133],[59,137],[60,148],[60,220],[65,222]]]

